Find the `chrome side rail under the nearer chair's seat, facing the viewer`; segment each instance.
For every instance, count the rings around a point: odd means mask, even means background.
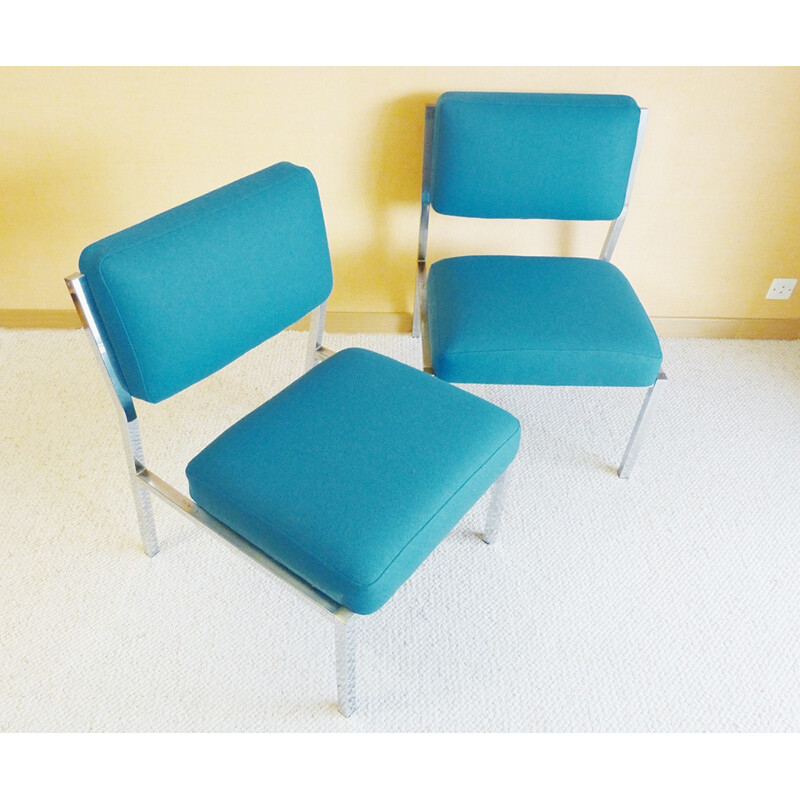
[[[229,528],[223,522],[220,522],[216,517],[212,517],[211,514],[200,508],[197,503],[179,492],[175,487],[170,486],[170,484],[159,478],[158,475],[151,472],[138,461],[136,462],[136,477],[154,495],[165,500],[173,508],[176,508],[182,514],[189,517],[189,519],[216,533],[228,544],[249,556],[257,564],[264,567],[264,569],[273,573],[273,575],[276,575],[281,580],[288,583],[300,592],[300,594],[304,595],[329,614],[339,617],[343,622],[347,621],[347,619],[353,615],[350,609],[345,608],[340,603],[337,603],[335,600],[315,589],[311,584],[306,583],[306,581],[286,569],[282,564],[270,558],[262,550],[259,550],[248,542],[247,539],[244,539],[236,533],[236,531]]]

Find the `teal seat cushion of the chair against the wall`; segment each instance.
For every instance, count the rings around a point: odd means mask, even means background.
[[[431,266],[434,373],[454,383],[649,386],[661,347],[625,276],[587,258],[464,256]]]

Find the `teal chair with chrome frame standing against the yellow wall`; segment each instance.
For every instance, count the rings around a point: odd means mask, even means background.
[[[625,96],[448,92],[426,108],[414,336],[454,383],[647,387],[628,478],[665,386],[650,319],[610,263],[646,109]],[[464,255],[428,272],[431,207],[487,219],[609,220],[599,259]]]

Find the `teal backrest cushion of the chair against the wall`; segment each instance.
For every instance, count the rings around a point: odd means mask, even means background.
[[[433,208],[465,217],[616,219],[639,117],[624,95],[447,92],[434,116]]]

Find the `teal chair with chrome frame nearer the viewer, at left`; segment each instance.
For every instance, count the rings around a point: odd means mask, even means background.
[[[280,163],[87,247],[67,278],[117,399],[145,552],[166,500],[327,612],[339,710],[355,708],[352,618],[377,611],[494,485],[507,412],[367,350],[322,345],[331,264],[317,186]],[[197,454],[186,497],[144,460],[134,398],[162,400],[311,312],[306,371]]]

